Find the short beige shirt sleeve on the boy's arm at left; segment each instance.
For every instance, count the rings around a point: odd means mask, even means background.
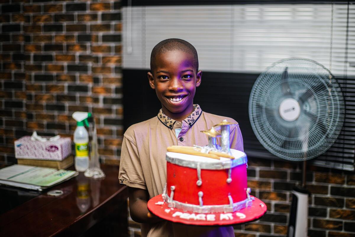
[[[137,146],[125,136],[122,141],[118,178],[121,184],[133,188],[147,189]]]

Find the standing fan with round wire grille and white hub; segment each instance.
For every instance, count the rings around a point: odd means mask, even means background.
[[[303,161],[302,185],[293,190],[288,237],[307,236],[306,160],[322,155],[334,144],[344,113],[337,80],[313,60],[280,60],[253,85],[249,117],[257,139],[275,156]]]

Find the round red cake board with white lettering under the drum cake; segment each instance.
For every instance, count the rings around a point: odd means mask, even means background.
[[[160,203],[158,203],[160,202]],[[163,204],[161,203],[163,202]],[[163,201],[162,195],[157,195],[148,201],[148,209],[162,219],[183,223],[187,225],[235,225],[257,220],[266,212],[266,205],[260,199],[255,198],[253,204],[239,211],[224,213],[200,214],[191,211],[183,211],[177,208],[169,208]]]

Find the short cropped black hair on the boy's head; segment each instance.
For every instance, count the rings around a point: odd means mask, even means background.
[[[193,55],[193,59],[195,60],[194,66],[196,68],[196,72],[198,70],[198,57],[197,51],[192,44],[183,39],[164,39],[163,41],[159,42],[157,45],[154,46],[152,53],[151,53],[151,71],[155,67],[155,57],[159,54],[170,52],[170,51],[180,51],[185,52]]]

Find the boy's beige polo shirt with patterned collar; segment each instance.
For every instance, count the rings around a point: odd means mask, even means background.
[[[160,109],[158,116],[130,126],[124,134],[121,149],[119,179],[129,187],[147,189],[149,198],[163,193],[166,183],[166,147],[205,146],[208,136],[201,133],[227,119],[206,112],[198,104],[182,122],[166,116]],[[176,137],[175,129],[181,131]],[[239,125],[230,127],[230,147],[244,151]],[[141,224],[142,236],[234,236],[233,228],[200,227],[173,224],[163,221],[157,224]],[[202,234],[202,235],[201,235]]]

